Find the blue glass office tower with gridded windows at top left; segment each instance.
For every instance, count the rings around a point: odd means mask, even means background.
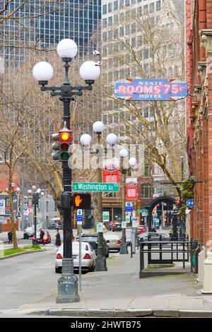
[[[1,1],[0,12],[6,3]],[[8,13],[13,13],[11,18],[0,21],[0,56],[4,64],[15,61],[17,66],[27,56],[28,47],[49,49],[63,38],[75,40],[80,56],[98,46],[98,36],[93,35],[100,25],[101,0],[14,0],[1,16]]]

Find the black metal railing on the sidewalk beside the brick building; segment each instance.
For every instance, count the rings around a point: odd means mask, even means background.
[[[185,268],[185,262],[190,261],[191,272],[193,271],[192,256],[193,251],[198,247],[198,241],[188,238],[162,238],[154,240],[148,237],[148,240],[141,239],[139,241],[140,247],[140,273],[139,277],[144,278],[149,275],[158,275],[158,273],[149,273],[143,271],[144,269],[144,254],[148,256],[148,265],[162,265],[162,264],[173,264],[176,261],[182,262],[182,267]],[[155,255],[158,254],[158,255]],[[167,255],[169,254],[169,255]],[[158,258],[153,258],[158,256]],[[164,258],[164,256],[166,256]],[[168,257],[167,257],[168,256]],[[169,272],[170,273],[170,272]],[[163,273],[165,274],[165,273]]]

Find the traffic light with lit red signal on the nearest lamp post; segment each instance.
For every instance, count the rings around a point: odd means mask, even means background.
[[[64,128],[61,129],[57,134],[52,134],[53,141],[57,143],[52,144],[52,158],[59,161],[68,161],[70,157],[69,146],[71,144],[71,130],[66,127],[64,122]]]

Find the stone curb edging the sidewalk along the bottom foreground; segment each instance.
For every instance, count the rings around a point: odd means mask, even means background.
[[[211,310],[190,309],[44,309],[26,313],[41,316],[74,317],[178,317],[178,318],[212,318]]]

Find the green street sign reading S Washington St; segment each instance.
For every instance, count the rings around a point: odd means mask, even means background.
[[[118,183],[102,182],[73,182],[73,191],[101,191],[101,192],[119,192]]]

